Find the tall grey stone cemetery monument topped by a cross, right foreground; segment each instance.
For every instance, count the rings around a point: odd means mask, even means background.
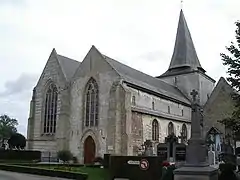
[[[201,129],[201,107],[198,92],[192,90],[191,138],[186,149],[186,163],[174,171],[174,180],[217,180],[217,169],[207,161],[205,140]]]

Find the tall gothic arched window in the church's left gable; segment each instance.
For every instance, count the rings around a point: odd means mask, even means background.
[[[50,84],[45,96],[44,124],[43,124],[44,134],[56,133],[57,103],[58,103],[57,87],[54,84]]]

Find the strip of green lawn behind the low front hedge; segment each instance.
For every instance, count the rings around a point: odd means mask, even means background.
[[[63,166],[51,166],[51,165],[42,165],[37,166],[39,168],[46,169],[56,169],[70,172],[82,172],[88,174],[88,180],[108,180],[108,171],[106,169],[101,168],[93,168],[93,167],[65,167]]]

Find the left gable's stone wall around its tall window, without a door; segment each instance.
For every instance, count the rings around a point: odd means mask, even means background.
[[[58,142],[59,138],[62,138],[63,135],[59,132],[65,132],[65,127],[61,125],[61,122],[68,121],[65,117],[66,113],[63,115],[61,113],[61,105],[68,99],[68,96],[62,96],[62,89],[66,87],[65,77],[61,71],[60,65],[56,58],[56,52],[53,51],[47,61],[47,64],[43,70],[43,73],[37,83],[36,89],[36,99],[35,99],[35,114],[33,119],[34,129],[32,139],[29,139],[29,142],[32,143],[33,150],[41,151],[58,151],[59,148],[64,147],[64,143]],[[58,109],[57,109],[57,127],[55,135],[43,135],[43,113],[44,113],[44,97],[46,88],[50,83],[54,83],[58,89]],[[31,124],[29,124],[31,126]]]

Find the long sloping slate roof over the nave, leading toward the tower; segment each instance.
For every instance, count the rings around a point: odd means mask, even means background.
[[[189,99],[187,99],[176,87],[167,84],[158,78],[133,69],[105,55],[103,55],[103,57],[126,82],[168,96],[186,104],[190,104]]]

